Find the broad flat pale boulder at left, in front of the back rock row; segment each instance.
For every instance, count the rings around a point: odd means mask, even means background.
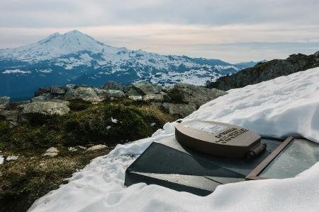
[[[40,114],[67,114],[69,107],[61,102],[32,102],[19,106],[23,114],[40,113]]]

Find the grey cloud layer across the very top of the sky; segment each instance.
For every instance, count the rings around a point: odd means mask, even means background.
[[[316,0],[2,0],[2,27],[84,27],[113,24],[318,24]]]

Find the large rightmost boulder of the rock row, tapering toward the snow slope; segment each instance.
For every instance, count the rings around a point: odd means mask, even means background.
[[[224,90],[203,88],[201,86],[184,83],[175,85],[167,92],[167,95],[172,98],[172,102],[186,104],[192,103],[196,105],[196,107],[200,107],[206,102],[225,94],[227,94],[227,92]]]

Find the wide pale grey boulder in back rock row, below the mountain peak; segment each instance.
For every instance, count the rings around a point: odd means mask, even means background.
[[[101,102],[108,98],[108,90],[99,88],[79,87],[74,90],[67,90],[65,100],[84,100],[88,102]]]

